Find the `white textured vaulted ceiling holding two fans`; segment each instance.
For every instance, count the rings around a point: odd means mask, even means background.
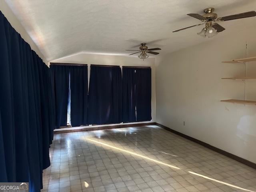
[[[6,0],[48,61],[79,52],[128,55],[140,42],[163,53],[210,39],[187,13],[214,7],[218,16],[256,10],[256,0]],[[198,22],[199,21],[199,22]],[[214,38],[255,25],[256,17],[222,22]],[[137,49],[137,48],[135,48]],[[136,56],[136,55],[134,55]]]

